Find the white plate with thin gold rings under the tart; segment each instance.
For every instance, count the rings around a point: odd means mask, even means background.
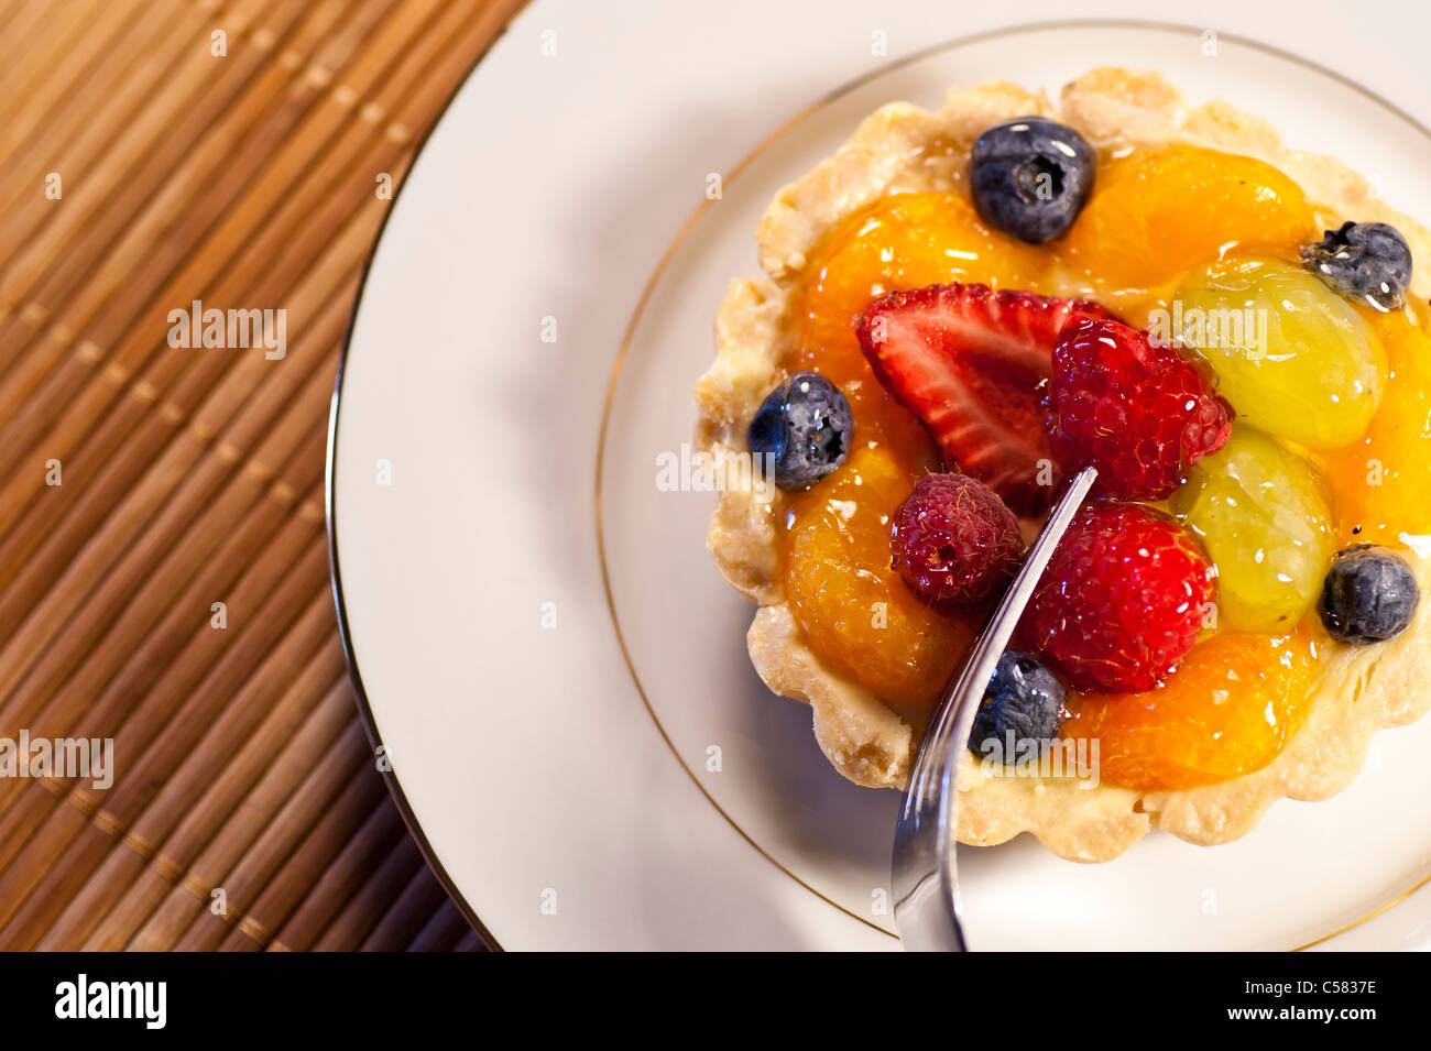
[[[1226,33],[1216,57],[1198,30],[1076,23],[916,56],[979,19],[737,3],[697,26],[694,9],[631,7],[643,17],[620,27],[578,4],[529,7],[394,206],[335,395],[335,586],[355,678],[429,855],[504,947],[897,948],[896,795],[840,779],[809,712],[766,692],[744,652],[750,608],[704,551],[711,496],[655,483],[657,456],[690,440],[711,313],[754,269],[766,202],[883,102],[934,106],[987,77],[1055,89],[1103,63],[1262,113],[1421,216],[1431,137]],[[881,33],[903,59],[869,54]],[[1382,90],[1392,57],[1368,69]],[[701,206],[711,172],[723,196]],[[610,605],[592,513],[608,398]],[[1100,867],[1027,837],[962,851],[972,941],[1292,948],[1354,925],[1322,944],[1425,944],[1431,892],[1408,891],[1431,872],[1431,815],[1390,804],[1431,795],[1428,745],[1431,722],[1381,734],[1351,789],[1279,802],[1221,848],[1152,835]]]

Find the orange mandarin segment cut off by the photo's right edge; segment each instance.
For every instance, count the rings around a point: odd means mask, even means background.
[[[1385,393],[1361,440],[1324,453],[1338,546],[1431,533],[1431,337],[1402,313],[1371,322],[1391,369]]]

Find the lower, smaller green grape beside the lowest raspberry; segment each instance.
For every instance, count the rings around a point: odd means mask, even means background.
[[[1332,556],[1331,515],[1305,460],[1245,423],[1173,496],[1218,568],[1222,625],[1289,631],[1317,599]]]

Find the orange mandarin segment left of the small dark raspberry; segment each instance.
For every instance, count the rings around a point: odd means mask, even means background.
[[[914,475],[860,446],[788,515],[786,593],[810,648],[904,708],[933,701],[973,639],[973,621],[939,613],[890,566],[893,515]]]

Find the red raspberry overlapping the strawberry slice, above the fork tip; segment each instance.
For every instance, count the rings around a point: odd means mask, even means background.
[[[1098,468],[1098,492],[1171,496],[1189,466],[1232,432],[1232,406],[1193,362],[1106,317],[1072,315],[1053,347],[1053,455]]]

